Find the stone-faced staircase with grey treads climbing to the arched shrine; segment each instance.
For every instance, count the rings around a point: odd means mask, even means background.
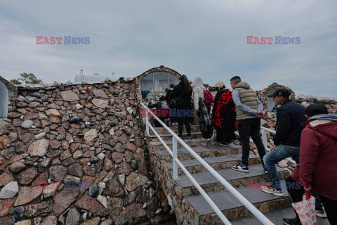
[[[177,134],[177,127],[170,128]],[[164,128],[155,129],[171,148],[171,134]],[[266,213],[291,207],[291,200],[285,189],[283,190],[285,194],[284,197],[278,197],[276,195],[264,193],[258,188],[258,185],[251,186],[251,184],[260,184],[261,182],[269,181],[269,177],[263,172],[263,167],[260,164],[260,158],[258,156],[250,155],[249,173],[237,172],[230,169],[230,167],[232,167],[232,165],[238,165],[239,162],[241,162],[241,146],[233,143],[230,146],[220,146],[216,141],[202,140],[197,125],[192,126],[192,135],[192,143],[187,143],[192,150],[209,163],[213,169],[216,169],[220,176],[223,176],[223,178],[234,186],[234,188],[237,188],[237,191],[242,193],[242,195],[244,195],[244,197],[261,212]],[[148,138],[153,149],[153,154],[156,155],[160,162],[161,169],[158,169],[157,172],[166,173],[159,174],[159,176],[168,176],[169,179],[165,180],[167,182],[169,182],[169,180],[173,181],[171,155],[153,133],[151,133]],[[186,134],[183,136],[183,139],[187,139]],[[184,141],[187,142],[187,140]],[[185,150],[185,148],[181,148],[180,144],[178,144],[178,158],[204,191],[209,193],[210,198],[225,214],[227,219],[234,220],[252,216],[251,212],[249,212],[249,210],[247,210],[234,195],[227,191],[210,172],[206,171],[206,169],[195,160],[187,150]],[[159,166],[159,162],[157,162],[157,166]],[[286,171],[286,169],[277,167],[277,171],[279,178],[282,180],[289,176],[289,172]],[[176,191],[177,195],[183,198],[183,200],[181,204],[175,205],[177,224],[223,224],[180,168],[178,169],[178,175],[179,178],[176,181],[173,181],[173,183],[174,186],[176,186],[175,190],[178,190]],[[171,185],[167,184],[167,186]],[[167,191],[168,190],[166,190],[166,192]],[[183,212],[183,215],[181,212]],[[289,217],[293,216],[292,213],[289,214]],[[273,222],[279,224],[280,221]]]

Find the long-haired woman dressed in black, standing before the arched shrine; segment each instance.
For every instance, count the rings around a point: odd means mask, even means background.
[[[179,84],[173,87],[170,94],[171,113],[175,122],[178,122],[178,136],[183,138],[183,124],[187,131],[188,141],[192,141],[191,122],[194,121],[194,110],[192,105],[192,87],[186,75],[179,78]],[[172,105],[173,103],[173,105]]]

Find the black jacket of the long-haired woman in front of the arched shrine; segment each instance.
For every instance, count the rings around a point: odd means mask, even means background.
[[[173,112],[173,117],[175,117],[175,122],[193,122],[194,121],[194,110],[192,105],[192,88],[190,90],[185,90],[183,82],[179,82],[178,85],[173,87],[170,94],[170,100],[173,98],[180,98],[176,108],[171,109]],[[171,114],[172,115],[172,114]]]

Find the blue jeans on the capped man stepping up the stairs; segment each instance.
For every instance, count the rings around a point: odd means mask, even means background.
[[[279,176],[277,175],[275,164],[289,157],[292,157],[293,160],[295,160],[295,162],[298,164],[300,161],[299,154],[300,154],[299,149],[279,145],[275,148],[275,150],[270,151],[263,157],[263,162],[265,162],[265,168],[267,169],[270,182],[272,182],[272,188],[282,189],[281,182],[279,181]]]

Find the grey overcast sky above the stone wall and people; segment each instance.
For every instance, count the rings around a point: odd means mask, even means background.
[[[211,85],[240,75],[256,90],[277,82],[296,94],[337,96],[336,0],[1,0],[0,34],[6,79],[32,72],[67,82],[80,69],[134,77],[165,65]],[[37,35],[90,44],[39,45]],[[249,35],[300,44],[248,45]]]

